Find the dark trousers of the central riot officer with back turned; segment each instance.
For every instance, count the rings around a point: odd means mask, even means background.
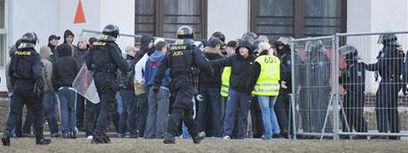
[[[172,111],[169,118],[168,133],[177,135],[179,124],[183,119],[185,126],[188,128],[189,134],[192,137],[198,135],[197,122],[192,119],[192,97],[193,87],[188,79],[172,80],[172,94],[175,94],[175,103],[172,106]]]

